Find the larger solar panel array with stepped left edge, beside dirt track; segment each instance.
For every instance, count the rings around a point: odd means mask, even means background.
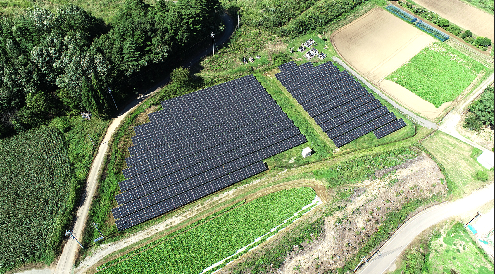
[[[123,230],[266,170],[306,142],[252,75],[161,102],[134,127],[112,210]]]

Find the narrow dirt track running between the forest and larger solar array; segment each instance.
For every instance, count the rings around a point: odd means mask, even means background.
[[[223,13],[221,15],[221,18],[225,23],[225,31],[222,37],[216,42],[217,45],[223,44],[225,41],[227,41],[234,32],[234,22],[232,21],[232,19],[226,13]],[[191,66],[194,63],[198,62],[204,56],[208,55],[211,51],[212,48],[210,47],[205,48],[198,54],[194,55],[192,58],[188,58],[188,60],[186,60],[183,63],[183,65]],[[93,196],[95,195],[95,191],[98,187],[99,171],[102,168],[101,165],[106,157],[108,151],[108,143],[111,140],[113,133],[118,129],[120,123],[124,120],[125,117],[127,117],[127,115],[131,111],[135,110],[140,105],[140,103],[142,103],[146,98],[154,94],[156,91],[159,91],[161,87],[163,87],[163,85],[165,85],[169,81],[169,79],[170,79],[169,76],[165,77],[163,81],[161,81],[156,86],[149,89],[145,94],[138,95],[138,97],[131,104],[129,104],[124,110],[122,110],[118,114],[118,116],[112,121],[112,123],[108,127],[105,137],[103,138],[103,141],[99,145],[98,153],[91,166],[87,184],[82,193],[81,201],[78,205],[78,210],[76,213],[76,217],[74,219],[75,224],[72,227],[76,238],[80,239],[83,234],[84,227],[86,224],[86,219],[88,218],[88,212],[91,206],[91,202],[93,201]],[[72,273],[74,263],[76,260],[76,255],[79,248],[80,248],[79,244],[73,239],[69,239],[67,241],[67,243],[65,244],[62,250],[62,254],[60,255],[58,263],[55,267],[54,274]]]

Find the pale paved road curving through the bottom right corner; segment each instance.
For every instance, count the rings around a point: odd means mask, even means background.
[[[396,261],[398,255],[426,228],[452,216],[473,210],[494,199],[494,184],[478,190],[455,202],[447,202],[425,209],[405,222],[396,233],[380,248],[358,274],[382,274]]]

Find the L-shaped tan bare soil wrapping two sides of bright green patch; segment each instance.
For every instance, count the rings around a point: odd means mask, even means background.
[[[434,120],[451,104],[440,108],[384,78],[435,40],[383,8],[374,8],[334,32],[331,42],[352,68],[379,86],[400,105]]]

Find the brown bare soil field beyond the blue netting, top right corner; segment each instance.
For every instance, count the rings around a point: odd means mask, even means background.
[[[494,41],[494,16],[459,0],[414,0],[459,27]]]

